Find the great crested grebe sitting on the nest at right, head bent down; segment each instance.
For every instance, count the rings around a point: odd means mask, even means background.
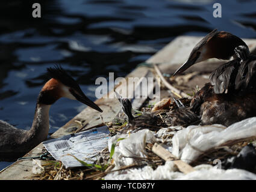
[[[201,115],[201,124],[228,126],[256,116],[256,55],[239,37],[225,31],[210,32],[174,75],[209,58],[233,60],[211,73],[210,83],[196,93],[189,110]]]

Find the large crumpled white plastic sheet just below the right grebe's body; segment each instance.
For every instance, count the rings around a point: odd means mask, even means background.
[[[225,128],[223,125],[189,126],[172,139],[172,154],[191,163],[202,152],[230,140],[256,137],[256,118],[248,118]]]

